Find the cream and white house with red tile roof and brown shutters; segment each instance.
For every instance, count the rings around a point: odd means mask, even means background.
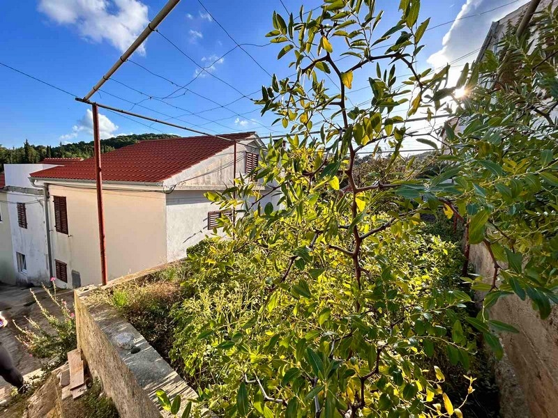
[[[262,142],[254,132],[220,136],[237,141],[236,176],[255,167]],[[204,193],[232,185],[234,143],[209,136],[142,141],[103,154],[101,163],[110,280],[183,258],[211,233],[221,213]],[[93,158],[36,170],[30,180],[47,189],[56,284],[99,284]]]

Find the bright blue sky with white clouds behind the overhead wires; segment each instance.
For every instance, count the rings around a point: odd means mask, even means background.
[[[419,20],[431,17],[430,26],[452,21],[456,17],[475,16],[428,31],[423,38],[427,46],[419,57],[419,65],[423,68],[444,65],[474,52],[481,46],[492,20],[498,20],[527,0],[511,2],[423,0]],[[165,3],[165,0],[6,2],[2,7],[0,61],[83,96]],[[96,94],[93,100],[160,119],[178,117],[180,120],[170,121],[210,133],[256,130],[263,135],[272,131],[283,132],[280,125],[271,126],[273,116],[260,117],[258,108],[246,98],[230,104],[230,110],[213,109],[219,104],[241,98],[239,92],[248,95],[261,88],[262,84],[269,84],[270,77],[266,72],[275,72],[282,77],[293,72],[288,68],[288,60],[276,60],[280,46],[255,46],[267,43],[264,36],[272,29],[271,14],[273,10],[278,10],[284,15],[282,4],[279,0],[202,0],[202,3],[215,20],[197,0],[182,1],[159,29],[199,65],[207,67],[213,63],[211,68],[198,74],[200,70],[195,63],[170,45],[163,36],[153,33],[144,49],[132,58],[139,65],[125,63],[114,76],[116,81],[107,82],[103,87],[105,93]],[[283,0],[283,3],[289,10],[298,11],[301,0]],[[302,3],[306,10],[320,4],[316,0]],[[507,3],[511,4],[499,7]],[[377,1],[377,8],[385,10],[385,27],[395,23],[398,17],[397,4],[395,0]],[[497,7],[490,13],[478,15]],[[255,44],[243,47],[263,69],[239,47],[233,49],[235,43],[216,21],[236,42]],[[233,50],[229,52],[230,49]],[[223,59],[216,61],[227,52]],[[460,67],[475,57],[476,54],[472,53],[455,65]],[[165,99],[165,102],[172,104],[169,106],[149,96],[165,98],[176,87],[151,75],[140,65],[180,85],[197,78],[188,86],[191,91],[179,91]],[[29,139],[31,144],[43,145],[92,139],[91,111],[85,104],[1,66],[0,75],[1,145],[20,146],[25,139]],[[368,76],[365,72],[355,75],[353,90],[365,86]],[[118,82],[142,91],[147,96]],[[335,89],[334,86],[331,88]],[[362,102],[369,96],[368,89],[349,95],[354,103]],[[257,95],[250,97],[257,98]],[[134,105],[137,102],[140,103]],[[204,112],[194,116],[190,114],[200,111]],[[186,135],[172,127],[141,125],[110,111],[102,111],[101,115],[103,137],[159,130]]]

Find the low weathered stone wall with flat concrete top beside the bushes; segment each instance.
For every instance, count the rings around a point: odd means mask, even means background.
[[[157,418],[156,391],[172,399],[195,398],[186,382],[113,307],[92,300],[94,286],[75,290],[77,346],[93,377],[112,398],[121,418]],[[137,351],[139,349],[139,351]],[[137,353],[136,353],[137,351]],[[135,354],[134,354],[135,353]],[[182,402],[183,407],[186,402]]]

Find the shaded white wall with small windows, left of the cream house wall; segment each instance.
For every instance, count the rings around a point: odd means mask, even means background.
[[[47,283],[50,280],[47,256],[47,229],[45,226],[45,203],[43,196],[8,192],[8,211],[10,231],[12,233],[13,265],[17,270],[16,252],[25,255],[27,273],[16,271],[16,280],[20,284]],[[27,229],[17,222],[17,204],[25,203],[27,212]]]

